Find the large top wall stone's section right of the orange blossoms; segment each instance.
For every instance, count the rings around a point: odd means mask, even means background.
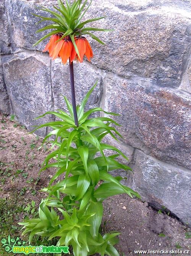
[[[142,76],[161,86],[178,87],[183,61],[190,48],[188,12],[158,7],[158,1],[152,5],[149,5],[151,1],[143,1],[148,3],[145,8],[141,8],[138,1],[123,5],[113,2],[109,5],[104,1],[101,7],[96,2],[87,12],[87,18],[107,15],[93,26],[115,29],[109,33],[94,33],[106,45],[101,47],[90,40],[94,49],[92,63],[125,78]],[[129,2],[138,3],[136,8],[140,9],[132,9]]]

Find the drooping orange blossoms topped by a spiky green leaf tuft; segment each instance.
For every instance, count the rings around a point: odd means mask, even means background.
[[[39,10],[51,13],[52,15],[54,15],[54,18],[43,17],[37,14],[33,14],[34,16],[41,18],[42,20],[40,21],[48,20],[52,22],[52,24],[36,31],[41,32],[45,30],[52,30],[47,35],[40,38],[40,40],[37,41],[33,46],[36,46],[42,40],[51,36],[50,41],[45,46],[43,52],[49,51],[49,55],[50,57],[52,57],[52,59],[60,57],[62,58],[63,64],[66,64],[68,59],[70,59],[70,63],[74,59],[79,62],[83,62],[83,57],[84,55],[86,55],[87,59],[91,61],[90,58],[93,57],[92,48],[87,39],[82,35],[90,35],[94,40],[104,45],[104,43],[99,38],[97,38],[89,31],[108,32],[113,30],[91,27],[84,28],[84,25],[92,21],[105,18],[106,16],[93,18],[81,22],[81,19],[90,7],[92,0],[85,10],[84,8],[87,0],[85,0],[82,6],[81,0],[74,0],[72,4],[71,2],[68,3],[68,0],[66,0],[66,7],[63,4],[62,0],[57,0],[57,2],[59,8],[54,6],[57,12],[49,10],[46,7],[38,8]]]

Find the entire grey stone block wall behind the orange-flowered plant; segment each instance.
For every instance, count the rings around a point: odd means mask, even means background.
[[[44,1],[41,4],[56,4]],[[93,1],[86,18],[107,15],[94,25],[115,28],[99,34],[105,46],[89,39],[91,63],[74,64],[77,103],[98,79],[89,107],[121,116],[120,144],[134,174],[126,185],[143,200],[165,207],[191,223],[190,2],[188,0]],[[32,12],[37,1],[0,0],[0,111],[14,113],[32,130],[45,111],[65,109],[70,96],[69,68],[42,54],[47,41]],[[47,116],[44,121],[53,120]],[[47,130],[40,131],[44,136]],[[114,175],[119,173],[114,172]]]

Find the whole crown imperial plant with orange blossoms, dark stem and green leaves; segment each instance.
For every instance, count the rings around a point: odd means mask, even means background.
[[[117,169],[131,170],[127,165],[117,161],[119,155],[126,160],[128,158],[116,147],[103,142],[107,134],[115,140],[118,140],[117,135],[121,137],[120,133],[113,127],[114,125],[119,126],[119,124],[108,117],[90,118],[90,115],[97,111],[113,116],[117,116],[117,114],[105,112],[100,107],[84,112],[86,102],[97,82],[87,92],[81,104],[76,106],[73,61],[82,62],[84,55],[90,61],[93,56],[89,42],[82,35],[88,34],[99,43],[104,44],[88,31],[113,31],[83,28],[89,22],[105,18],[99,17],[80,23],[91,2],[84,10],[87,0],[82,6],[81,0],[74,0],[72,4],[66,0],[66,7],[61,0],[58,0],[59,8],[54,7],[58,12],[53,12],[45,7],[40,8],[40,10],[54,15],[55,18],[35,15],[40,17],[41,21],[50,20],[53,22],[52,25],[37,31],[53,30],[35,45],[51,36],[44,51],[49,51],[52,59],[58,56],[62,58],[63,64],[66,64],[69,59],[72,104],[64,97],[69,114],[58,109],[55,112],[46,112],[36,118],[52,114],[59,119],[34,129],[34,131],[43,127],[52,129],[44,138],[41,147],[46,142],[52,144],[50,150],[54,149],[55,146],[57,147],[45,158],[40,172],[51,167],[57,167],[57,172],[51,178],[49,186],[41,190],[48,193],[48,197],[40,203],[39,218],[25,220],[19,225],[23,225],[25,228],[23,235],[30,233],[29,243],[36,234],[42,238],[47,237],[49,240],[58,237],[57,246],[72,246],[74,256],[87,256],[94,253],[100,253],[101,256],[104,254],[119,256],[114,245],[118,243],[117,236],[120,233],[117,231],[104,235],[100,233],[103,216],[102,202],[107,197],[121,193],[127,193],[132,198],[133,195],[139,198],[140,196],[134,190],[121,185],[122,177],[113,177],[109,173]],[[55,140],[49,141],[52,135],[55,135]],[[105,156],[104,150],[110,150],[112,153]],[[97,156],[98,152],[100,156]],[[49,163],[51,159],[55,159],[56,162]],[[54,184],[53,182],[58,177],[60,178],[63,173],[65,173],[65,178]],[[59,220],[58,212],[62,215],[62,220]]]

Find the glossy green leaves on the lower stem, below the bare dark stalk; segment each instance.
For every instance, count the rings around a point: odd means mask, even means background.
[[[139,197],[139,194],[121,185],[121,177],[113,177],[109,173],[117,169],[131,170],[127,165],[120,164],[116,160],[118,155],[128,160],[119,149],[102,143],[107,134],[116,140],[116,135],[121,136],[111,126],[111,124],[117,126],[119,124],[108,117],[89,118],[95,111],[103,111],[99,107],[84,113],[84,106],[95,86],[96,84],[84,97],[81,105],[77,106],[79,127],[74,124],[72,105],[65,97],[70,114],[62,110],[47,112],[43,116],[53,114],[61,121],[48,122],[35,129],[52,128],[42,145],[50,136],[55,135],[55,140],[50,141],[51,149],[55,145],[58,149],[45,158],[40,172],[50,167],[57,167],[57,172],[50,180],[49,186],[42,189],[49,195],[40,203],[39,218],[19,224],[25,228],[23,235],[30,232],[29,242],[34,235],[48,237],[49,240],[57,237],[59,238],[57,246],[71,245],[74,256],[87,256],[94,253],[100,253],[101,256],[104,254],[118,256],[113,246],[118,243],[117,236],[120,233],[111,232],[102,236],[100,232],[103,216],[102,201],[121,193],[127,193],[130,197],[133,197],[132,195]],[[105,156],[106,149],[114,151],[115,154]],[[49,164],[50,159],[55,159],[56,162]],[[65,179],[52,185],[63,173],[65,173]],[[57,215],[54,208],[60,211],[62,220],[59,220],[60,215]]]

